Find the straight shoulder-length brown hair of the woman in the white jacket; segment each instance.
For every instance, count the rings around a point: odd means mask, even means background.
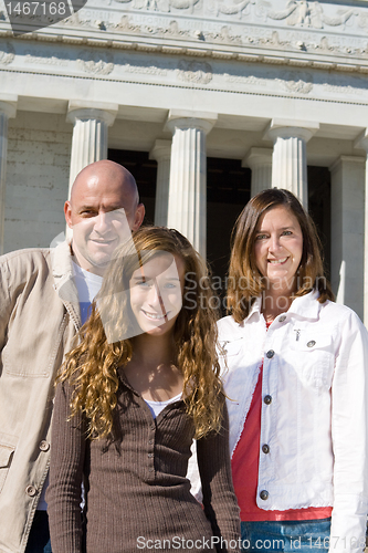
[[[265,290],[265,279],[255,263],[255,233],[262,215],[278,206],[284,206],[296,217],[303,233],[303,253],[296,273],[296,292],[293,296],[305,295],[316,289],[319,292],[320,303],[334,300],[329,282],[324,275],[322,244],[313,220],[292,192],[270,188],[246,204],[232,232],[228,310],[238,323],[249,315],[255,298]]]

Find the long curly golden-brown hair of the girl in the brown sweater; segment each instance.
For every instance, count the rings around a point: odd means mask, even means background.
[[[129,280],[139,267],[165,252],[185,263],[182,307],[175,322],[174,340],[175,362],[183,376],[186,410],[193,419],[197,438],[220,429],[224,396],[215,353],[218,316],[211,307],[214,292],[208,269],[178,231],[144,227],[134,233],[128,246],[115,253],[91,316],[76,336],[78,344],[66,355],[57,377],[57,382],[72,385],[71,416],[84,413],[92,439],[115,439],[117,369],[130,361],[133,353],[132,341],[126,337],[134,335],[129,328],[129,321],[134,319]],[[116,333],[116,328],[120,333]],[[114,341],[106,335],[115,335]]]

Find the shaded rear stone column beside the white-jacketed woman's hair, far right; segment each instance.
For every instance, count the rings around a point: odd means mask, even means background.
[[[364,317],[365,158],[340,156],[332,174],[330,281],[336,302]]]

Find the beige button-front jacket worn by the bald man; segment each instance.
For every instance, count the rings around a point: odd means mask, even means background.
[[[0,553],[25,550],[50,463],[54,376],[81,326],[70,247],[0,258]]]

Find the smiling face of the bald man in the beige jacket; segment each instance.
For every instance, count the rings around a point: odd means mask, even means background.
[[[87,173],[65,202],[65,219],[73,229],[73,252],[86,271],[103,275],[115,249],[130,238],[144,217],[132,186],[122,175]]]

